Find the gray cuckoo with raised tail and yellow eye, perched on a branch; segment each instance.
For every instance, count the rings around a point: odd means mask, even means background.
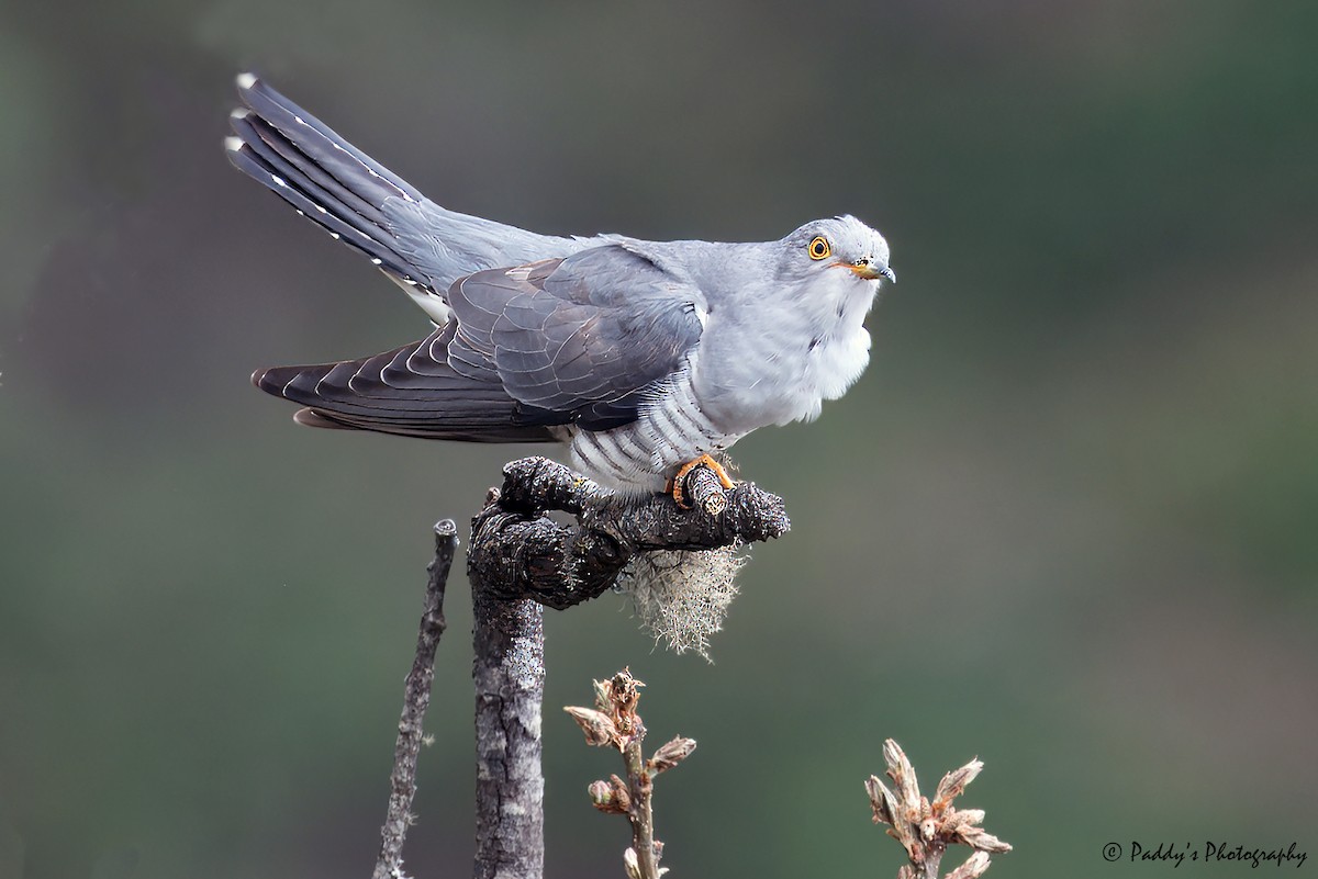
[[[731,487],[709,455],[813,420],[869,362],[865,316],[896,276],[854,217],[762,243],[542,236],[442,208],[256,76],[237,84],[229,161],[435,325],[374,357],[258,370],[301,424],[559,441],[614,490],[676,492],[696,463]]]

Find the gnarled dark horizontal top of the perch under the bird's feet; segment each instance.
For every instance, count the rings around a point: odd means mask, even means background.
[[[472,522],[468,571],[494,597],[563,609],[601,595],[637,553],[764,541],[791,526],[780,497],[753,483],[725,490],[706,467],[685,476],[684,493],[693,509],[666,495],[610,495],[547,458],[514,461]],[[560,525],[546,511],[576,524]]]

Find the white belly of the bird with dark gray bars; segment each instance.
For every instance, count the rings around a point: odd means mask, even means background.
[[[569,429],[572,465],[606,488],[659,492],[681,465],[722,451],[745,434],[722,433],[701,413],[685,371],[672,376],[631,424]]]

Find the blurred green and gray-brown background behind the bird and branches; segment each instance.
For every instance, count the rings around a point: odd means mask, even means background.
[[[559,707],[623,665],[700,742],[673,876],[895,875],[890,736],[929,786],[985,759],[996,876],[1170,871],[1102,859],[1132,840],[1311,872],[1315,58],[1304,0],[0,3],[0,878],[368,875],[430,525],[526,451],[249,387],[426,322],[228,167],[246,68],[456,209],[892,245],[861,383],[737,449],[793,530],[716,665],[617,595],[550,613],[548,876],[622,875],[618,761]],[[472,851],[459,576],[448,617],[419,876]]]

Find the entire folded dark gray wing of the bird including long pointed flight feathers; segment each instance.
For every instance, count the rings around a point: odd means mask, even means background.
[[[260,370],[302,424],[469,442],[634,421],[701,333],[704,296],[621,245],[480,271],[448,291],[455,320],[374,357]]]

